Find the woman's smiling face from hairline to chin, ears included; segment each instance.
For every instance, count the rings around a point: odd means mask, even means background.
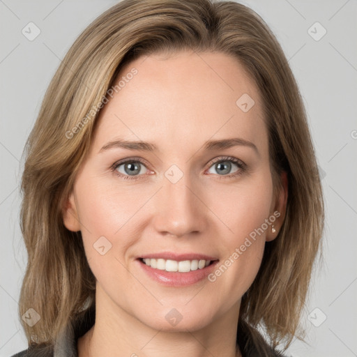
[[[236,319],[283,216],[261,96],[217,52],[141,57],[119,77],[63,216],[96,304],[167,331]]]

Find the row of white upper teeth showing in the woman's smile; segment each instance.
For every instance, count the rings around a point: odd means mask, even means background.
[[[161,271],[178,271],[179,273],[188,273],[189,271],[197,271],[211,264],[211,260],[183,260],[176,261],[171,259],[142,259],[147,266],[160,269]]]

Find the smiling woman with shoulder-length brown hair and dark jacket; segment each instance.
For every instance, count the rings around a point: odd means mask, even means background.
[[[22,192],[16,356],[282,356],[303,338],[321,184],[294,76],[249,8],[98,17],[47,90]]]

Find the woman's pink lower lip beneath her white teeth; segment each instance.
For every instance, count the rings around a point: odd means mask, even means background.
[[[179,273],[179,271],[162,271],[160,269],[151,268],[151,266],[147,266],[140,259],[137,259],[137,261],[150,278],[169,287],[186,287],[204,280],[215,269],[215,266],[218,263],[218,260],[216,260],[202,269],[188,271],[187,273]]]

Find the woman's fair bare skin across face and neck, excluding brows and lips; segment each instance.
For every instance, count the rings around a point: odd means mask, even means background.
[[[91,150],[63,207],[66,227],[82,231],[97,280],[96,324],[79,338],[79,357],[241,356],[241,297],[257,275],[266,241],[278,235],[287,202],[284,175],[283,188],[273,196],[260,93],[241,64],[219,52],[146,56],[128,63],[119,77],[132,68],[137,75],[100,112]],[[243,93],[255,100],[248,112],[236,105]],[[209,139],[231,137],[252,142],[257,152],[249,146],[204,150]],[[119,138],[153,142],[158,151],[99,153]],[[212,160],[225,155],[248,168],[231,162],[230,171],[219,174]],[[110,170],[126,158],[144,160],[136,162],[142,168],[136,179]],[[165,176],[172,165],[183,173],[177,183]],[[126,165],[120,167],[116,172],[132,177]],[[274,211],[280,212],[276,232],[269,226],[215,282],[163,286],[136,260],[172,251],[225,261]],[[100,236],[112,244],[105,255],[93,248]],[[182,315],[176,326],[165,319],[173,308]]]

